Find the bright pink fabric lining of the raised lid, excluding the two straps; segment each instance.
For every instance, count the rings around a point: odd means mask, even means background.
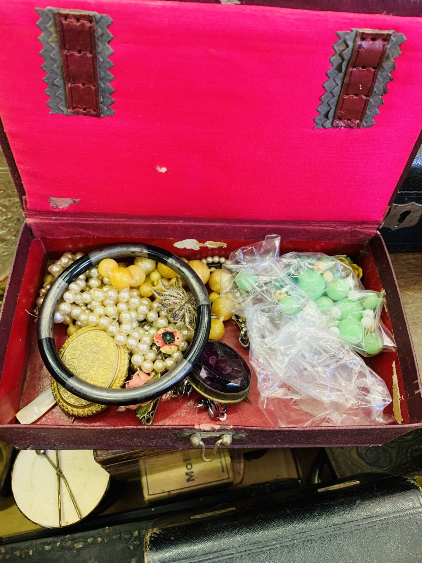
[[[35,7],[9,0],[0,17],[28,214],[382,220],[422,126],[421,17],[66,0],[113,20],[114,114],[96,118],[49,113]],[[384,105],[373,127],[315,129],[336,32],[354,28],[406,35]]]

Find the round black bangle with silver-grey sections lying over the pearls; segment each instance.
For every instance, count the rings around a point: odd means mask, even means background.
[[[164,376],[141,387],[109,389],[87,383],[66,368],[59,357],[53,338],[54,315],[70,282],[104,258],[125,256],[151,258],[151,260],[165,264],[185,280],[196,301],[196,328],[192,342],[183,358]],[[51,284],[38,317],[38,347],[41,358],[52,377],[74,395],[101,405],[136,405],[160,397],[187,376],[204,351],[206,342],[208,342],[210,326],[211,309],[208,293],[199,276],[186,262],[158,247],[146,244],[115,244],[78,258]]]

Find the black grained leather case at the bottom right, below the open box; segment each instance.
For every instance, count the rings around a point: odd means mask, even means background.
[[[217,507],[155,521],[146,563],[420,563],[422,491],[405,477],[360,475],[284,502]]]

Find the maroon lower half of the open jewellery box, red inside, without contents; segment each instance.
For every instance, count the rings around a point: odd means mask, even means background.
[[[124,229],[124,226],[125,224],[122,224],[118,230]],[[214,222],[213,227],[218,228],[218,222]],[[261,227],[261,229],[265,228],[265,226]],[[188,398],[170,399],[165,397],[162,399],[152,427],[142,426],[142,423],[137,419],[132,410],[122,407],[109,407],[98,415],[75,419],[72,422],[71,418],[62,412],[58,406],[52,408],[30,426],[16,425],[14,415],[17,410],[32,401],[50,385],[50,375],[44,367],[38,352],[35,336],[36,320],[30,314],[34,309],[38,289],[40,284],[42,284],[47,260],[60,257],[61,253],[68,249],[89,251],[100,245],[125,240],[122,236],[111,236],[110,234],[101,236],[98,231],[104,229],[107,233],[108,230],[104,225],[101,227],[98,224],[97,229],[97,236],[74,238],[61,238],[60,236],[50,238],[43,236],[42,238],[33,239],[28,228],[24,227],[20,241],[21,248],[18,248],[17,258],[20,261],[25,260],[25,257],[20,254],[20,252],[25,252],[25,243],[28,245],[28,253],[21,279],[21,287],[17,288],[19,297],[17,298],[15,317],[11,328],[10,345],[5,359],[0,386],[0,424],[2,425],[0,426],[0,433],[15,445],[20,448],[42,447],[46,446],[46,444],[49,446],[57,445],[61,448],[107,448],[116,445],[116,440],[118,440],[119,446],[122,447],[134,445],[152,447],[158,441],[160,447],[163,448],[174,447],[174,445],[178,444],[187,446],[187,439],[179,439],[176,433],[181,430],[195,428],[205,431],[227,431],[227,429],[230,429],[232,432],[246,433],[246,439],[235,441],[235,445],[240,447],[245,445],[245,440],[248,446],[373,444],[377,441],[382,443],[390,439],[390,437],[403,434],[412,426],[420,423],[422,410],[420,393],[417,393],[417,390],[419,390],[417,377],[416,381],[411,382],[409,379],[410,374],[414,373],[413,370],[404,374],[402,370],[403,358],[406,358],[406,354],[403,354],[403,352],[408,350],[406,343],[408,334],[406,330],[404,332],[399,330],[398,321],[396,325],[398,330],[395,331],[390,318],[391,311],[394,311],[394,315],[396,315],[396,312],[398,316],[402,314],[401,303],[397,287],[394,289],[395,284],[392,272],[387,272],[387,276],[390,278],[388,288],[384,287],[385,280],[381,280],[380,270],[384,270],[385,277],[385,269],[389,270],[390,265],[383,242],[380,236],[376,235],[363,252],[364,245],[362,243],[329,241],[284,242],[282,243],[281,251],[321,251],[328,254],[347,253],[362,266],[365,272],[363,283],[366,288],[374,289],[375,291],[385,289],[387,293],[387,308],[383,310],[382,319],[387,327],[394,332],[394,336],[398,340],[399,353],[385,352],[368,361],[371,367],[387,383],[392,396],[394,396],[396,401],[394,413],[396,415],[399,413],[402,419],[400,426],[393,423],[388,427],[366,427],[366,429],[365,427],[343,427],[341,429],[325,427],[324,430],[318,427],[311,427],[302,428],[295,433],[292,428],[273,428],[258,406],[257,379],[254,374],[249,394],[253,403],[250,404],[247,401],[243,401],[243,403],[230,405],[228,418],[224,423],[210,421],[208,414],[204,410],[196,408],[199,395],[194,392]],[[147,225],[144,225],[142,230],[147,230]],[[207,239],[203,239],[203,242]],[[159,245],[177,253],[179,256],[186,256],[187,258],[201,258],[215,253],[215,250],[213,251],[212,249],[205,249],[205,251],[202,249],[201,251],[177,249],[173,243],[179,239],[148,238],[145,236],[137,238],[132,233],[131,240],[142,240],[145,243]],[[226,242],[227,247],[219,251],[219,254],[227,257],[234,249],[254,240],[258,239],[224,239],[222,242]],[[10,292],[12,291],[13,288]],[[12,296],[10,296],[10,301],[12,301]],[[56,326],[57,346],[60,347],[65,336],[64,327],[62,325]],[[223,337],[223,341],[233,346],[248,361],[248,352],[239,343],[239,329],[234,321],[226,323],[226,334]],[[404,361],[406,364],[406,359]],[[393,379],[395,377],[393,376],[394,373],[396,373],[397,381]],[[393,412],[393,404],[389,406],[388,412]]]

